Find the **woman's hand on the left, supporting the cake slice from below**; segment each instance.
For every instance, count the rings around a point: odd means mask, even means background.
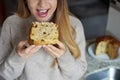
[[[41,48],[41,46],[36,45],[30,45],[26,47],[27,44],[28,41],[21,41],[16,48],[18,55],[23,59],[29,58]]]

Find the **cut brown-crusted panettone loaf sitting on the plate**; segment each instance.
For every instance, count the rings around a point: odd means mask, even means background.
[[[115,37],[106,35],[96,39],[95,55],[107,54],[110,59],[115,59],[118,56],[120,46],[119,40]]]

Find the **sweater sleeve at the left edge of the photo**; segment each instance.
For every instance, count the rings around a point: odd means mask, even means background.
[[[5,80],[14,80],[22,73],[25,61],[16,53],[11,44],[10,19],[7,19],[0,36],[0,76]]]

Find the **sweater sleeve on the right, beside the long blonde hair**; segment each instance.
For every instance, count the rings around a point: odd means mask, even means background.
[[[67,50],[67,52],[58,59],[58,63],[64,80],[79,80],[87,70],[85,58],[86,42],[81,22],[74,17],[70,17],[70,19],[72,26],[74,26],[77,32],[76,42],[81,51],[81,56],[78,59],[74,59],[69,50]]]

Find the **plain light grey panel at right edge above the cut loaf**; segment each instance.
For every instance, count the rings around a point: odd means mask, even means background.
[[[120,40],[120,10],[109,8],[107,34],[112,34]]]

